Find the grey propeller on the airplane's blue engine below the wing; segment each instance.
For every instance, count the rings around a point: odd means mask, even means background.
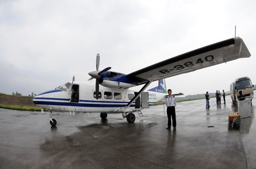
[[[88,73],[90,76],[92,76],[89,80],[92,80],[93,78],[96,79],[96,85],[95,85],[95,92],[96,92],[96,99],[98,100],[99,98],[99,80],[101,78],[101,73],[105,72],[105,71],[108,71],[111,69],[111,67],[107,67],[103,70],[99,70],[99,53],[97,54],[97,57],[96,57],[96,71],[92,71],[90,73]]]

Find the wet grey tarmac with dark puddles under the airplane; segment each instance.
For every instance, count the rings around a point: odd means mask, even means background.
[[[177,129],[166,130],[163,105],[143,109],[129,124],[121,114],[101,120],[99,113],[70,115],[0,109],[0,168],[256,168],[256,124],[228,126],[236,112],[210,99],[177,103]]]

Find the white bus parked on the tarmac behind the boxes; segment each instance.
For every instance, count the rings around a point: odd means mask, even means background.
[[[230,97],[233,103],[237,102],[239,91],[242,91],[242,94],[245,96],[245,99],[253,99],[253,85],[249,77],[240,77],[237,78],[230,85]]]

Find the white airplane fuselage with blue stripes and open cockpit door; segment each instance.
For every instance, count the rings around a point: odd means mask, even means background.
[[[101,86],[97,100],[94,84],[73,81],[53,91],[37,95],[33,102],[41,108],[53,111],[120,113],[125,111],[124,107],[134,97],[135,92],[131,89],[112,89]],[[140,98],[139,106],[134,102],[129,107],[129,111],[147,108],[143,107],[143,101],[151,105],[164,100],[166,95],[151,91],[147,93],[148,98]]]

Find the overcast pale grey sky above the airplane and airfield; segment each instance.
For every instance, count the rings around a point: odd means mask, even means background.
[[[166,79],[184,95],[256,84],[256,1],[0,1],[0,92],[30,95],[88,72],[131,73],[176,55],[241,37],[250,58]],[[155,86],[157,83],[151,85]],[[150,89],[150,88],[148,88]]]

